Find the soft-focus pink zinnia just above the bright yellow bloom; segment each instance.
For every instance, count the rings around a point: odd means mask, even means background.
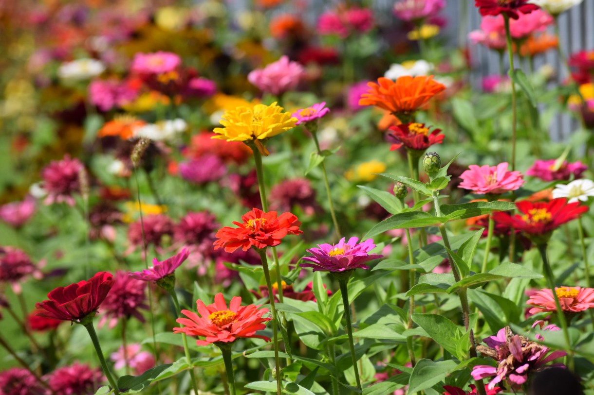
[[[287,56],[282,56],[263,69],[251,71],[248,81],[264,93],[279,95],[295,89],[303,74],[303,66],[292,62]]]

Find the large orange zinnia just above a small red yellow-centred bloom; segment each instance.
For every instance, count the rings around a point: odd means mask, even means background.
[[[369,82],[367,85],[369,90],[361,95],[359,105],[380,107],[396,116],[415,112],[445,90],[445,85],[436,82],[432,75],[405,75],[396,81],[380,77],[377,84]]]

